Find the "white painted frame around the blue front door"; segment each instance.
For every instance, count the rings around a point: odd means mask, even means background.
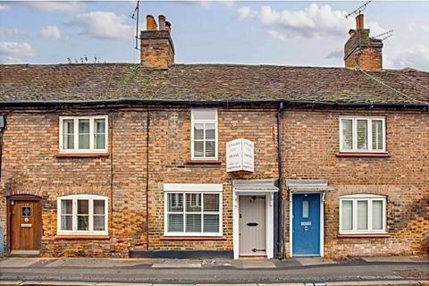
[[[290,257],[293,257],[293,195],[304,195],[304,194],[319,194],[320,195],[320,257],[324,257],[324,191],[290,191],[289,196],[289,241],[290,241]]]

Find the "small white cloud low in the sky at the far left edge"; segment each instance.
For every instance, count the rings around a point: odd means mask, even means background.
[[[0,42],[3,63],[21,63],[23,58],[36,55],[36,50],[27,42]]]

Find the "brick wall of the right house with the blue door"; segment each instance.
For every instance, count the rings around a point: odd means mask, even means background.
[[[390,157],[337,157],[339,116],[386,116]],[[325,255],[423,255],[429,240],[429,117],[427,114],[352,111],[286,111],[283,118],[285,179],[328,179],[325,198]],[[339,197],[387,196],[390,238],[339,239]],[[289,196],[285,199],[289,254]]]

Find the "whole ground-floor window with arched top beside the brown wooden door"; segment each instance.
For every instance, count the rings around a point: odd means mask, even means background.
[[[57,204],[59,234],[107,234],[107,197],[71,195]]]

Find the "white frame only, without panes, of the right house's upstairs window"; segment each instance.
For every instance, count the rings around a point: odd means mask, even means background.
[[[342,146],[342,120],[343,119],[349,119],[352,121],[352,148],[351,149],[345,149]],[[358,120],[365,120],[367,123],[367,142],[368,142],[368,148],[367,149],[357,149],[357,121]],[[373,124],[372,121],[382,121],[382,127],[383,127],[383,149],[382,150],[373,150]],[[353,153],[385,153],[386,152],[386,118],[380,117],[380,116],[340,116],[340,152],[353,152]]]

